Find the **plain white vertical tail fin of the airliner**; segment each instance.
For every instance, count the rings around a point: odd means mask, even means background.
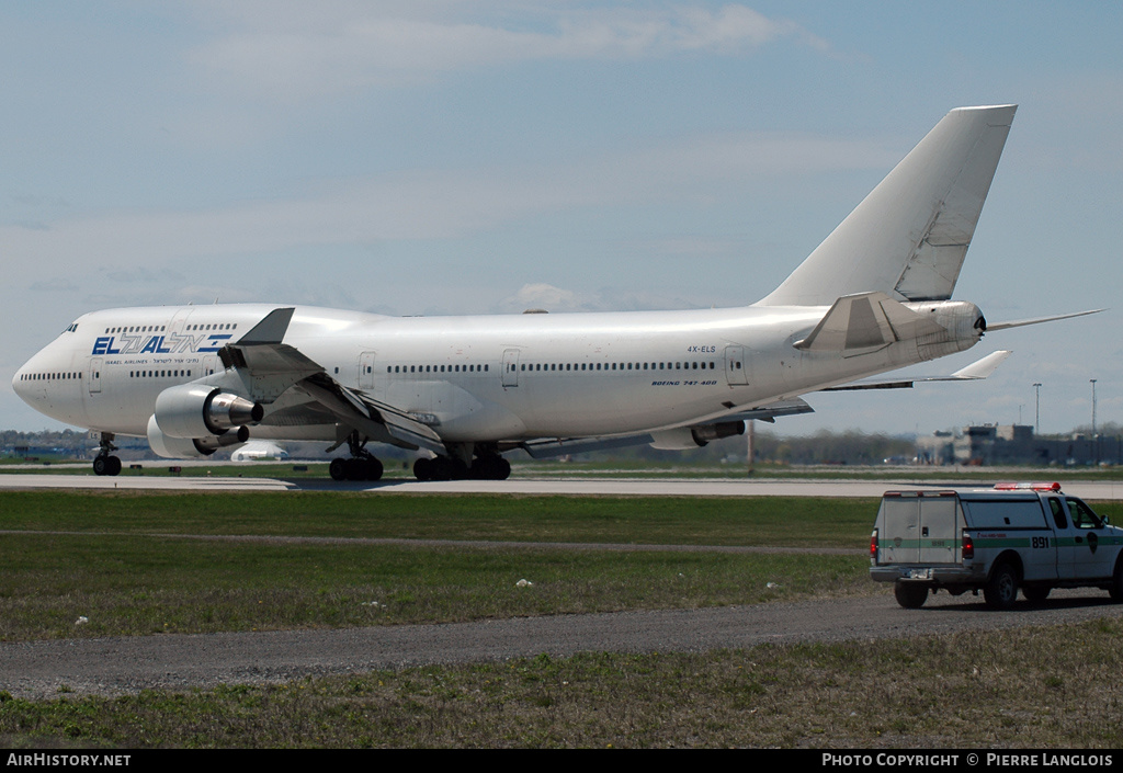
[[[947,300],[959,279],[1015,104],[958,108],[760,306],[830,306],[880,291]]]

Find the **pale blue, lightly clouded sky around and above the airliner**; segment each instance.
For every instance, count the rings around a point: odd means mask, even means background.
[[[81,313],[736,307],[950,109],[1017,116],[953,298],[985,382],[782,434],[1123,420],[1123,4],[0,0],[0,427]]]

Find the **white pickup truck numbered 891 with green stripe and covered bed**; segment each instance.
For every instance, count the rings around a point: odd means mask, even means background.
[[[1123,601],[1123,529],[1059,483],[887,491],[869,543],[870,576],[894,583],[915,609],[929,591],[978,594],[1008,609],[1017,591],[1043,601],[1053,588],[1102,588]]]

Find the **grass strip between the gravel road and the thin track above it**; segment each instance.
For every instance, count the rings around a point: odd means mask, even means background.
[[[846,555],[3,539],[0,640],[9,642],[455,622],[874,590],[865,560]]]

